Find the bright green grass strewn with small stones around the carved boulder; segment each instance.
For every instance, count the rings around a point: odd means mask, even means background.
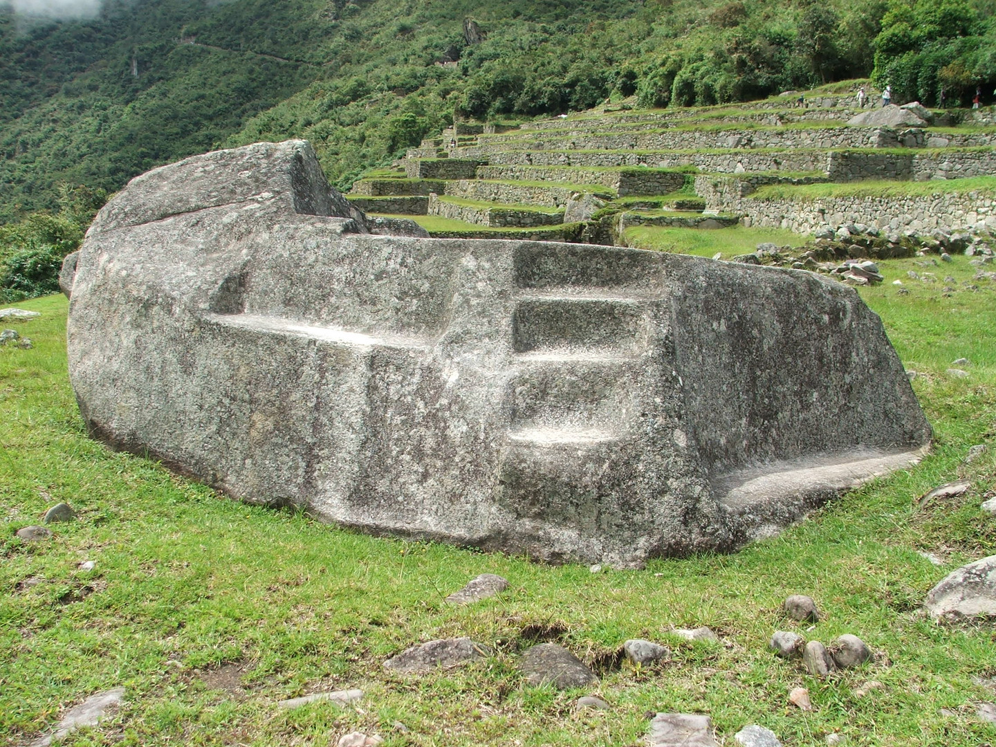
[[[774,231],[686,230],[679,239],[673,229],[639,230],[656,247],[706,254],[723,242],[728,253],[763,240],[790,243],[790,234]],[[750,236],[750,246],[731,248],[734,233]],[[945,573],[996,553],[996,520],[978,508],[994,488],[996,454],[990,448],[960,464],[969,446],[996,434],[996,290],[972,280],[967,258],[916,264],[923,261],[881,263],[885,283],[862,291],[917,372],[913,386],[936,431],[920,465],[736,555],[601,574],[367,537],[242,505],[111,452],[87,437],[67,380],[65,299],[20,304],[43,316],[16,325],[32,350],[0,348],[3,743],[27,743],[66,707],[114,686],[126,688],[123,709],[66,744],[324,747],[360,730],[388,746],[636,745],[646,712],[657,710],[709,713],[726,745],[748,723],[789,746],[822,745],[833,732],[847,745],[993,743],[996,728],[978,722],[974,709],[996,692],[973,679],[996,675],[992,623],[941,626],[918,606]],[[907,270],[933,272],[939,282],[909,280]],[[942,294],[945,275],[954,278],[950,296]],[[910,292],[897,295],[893,279]],[[960,367],[968,377],[946,374],[961,357],[971,361]],[[958,475],[973,480],[967,494],[914,509],[917,496]],[[60,500],[78,521],[54,525],[47,543],[13,538]],[[80,571],[88,560],[95,570]],[[485,572],[505,576],[511,588],[466,608],[443,604]],[[813,596],[825,613],[811,630],[779,614],[796,593]],[[668,632],[698,625],[721,642]],[[880,654],[819,681],[767,650],[776,629],[825,642],[855,632]],[[381,669],[410,644],[458,635],[494,646],[494,655],[427,676]],[[629,637],[669,643],[673,660],[615,665]],[[590,691],[610,712],[575,713],[585,693],[524,685],[517,654],[544,638],[596,665],[602,680]],[[883,686],[861,696],[872,679]],[[809,688],[814,712],[789,703],[797,686]],[[276,705],[350,687],[367,695],[348,708]]]

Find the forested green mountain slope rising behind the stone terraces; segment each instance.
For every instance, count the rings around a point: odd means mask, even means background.
[[[467,20],[474,23],[466,23]],[[305,136],[348,184],[452,118],[712,104],[873,72],[991,98],[988,0],[135,0],[0,6],[0,223],[219,145]]]

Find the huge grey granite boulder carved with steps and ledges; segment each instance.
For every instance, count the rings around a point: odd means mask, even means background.
[[[852,289],[429,239],[351,208],[300,140],[132,179],[63,279],[95,437],[375,534],[617,567],[731,551],[930,435]]]

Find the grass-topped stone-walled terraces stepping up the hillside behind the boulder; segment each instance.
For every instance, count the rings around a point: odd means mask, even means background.
[[[848,124],[862,114],[852,94],[794,105],[792,97],[649,112],[617,106],[518,127],[456,124],[358,181],[350,198],[373,214],[413,216],[437,236],[590,243],[624,244],[626,226],[647,224],[800,233],[835,228],[838,218],[887,230],[996,227],[991,200],[940,196],[942,180],[996,174],[992,113],[958,126],[946,112],[918,126],[859,126]],[[882,180],[936,180],[938,194],[791,196],[796,186]],[[789,196],[752,196],[766,185]]]

